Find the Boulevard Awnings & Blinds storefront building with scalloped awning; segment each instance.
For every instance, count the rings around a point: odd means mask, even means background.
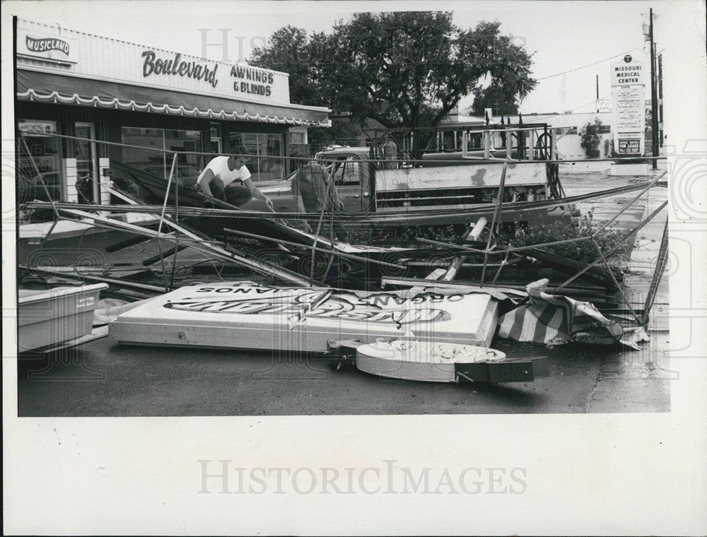
[[[107,202],[111,160],[169,174],[172,155],[156,150],[215,155],[238,144],[254,155],[255,181],[279,179],[291,141],[329,126],[329,112],[291,104],[287,73],[16,20],[18,167],[30,169],[31,154],[57,199],[78,201],[76,179],[88,175],[92,201]],[[180,173],[210,156],[180,154]]]

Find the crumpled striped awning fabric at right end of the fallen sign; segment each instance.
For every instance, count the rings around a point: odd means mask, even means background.
[[[515,341],[561,345],[621,341],[624,329],[590,302],[545,293],[548,280],[526,286],[527,302],[498,318],[498,336]]]

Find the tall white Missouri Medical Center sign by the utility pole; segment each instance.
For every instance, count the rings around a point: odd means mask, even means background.
[[[642,155],[646,78],[643,62],[626,54],[611,69],[614,148],[619,155]]]

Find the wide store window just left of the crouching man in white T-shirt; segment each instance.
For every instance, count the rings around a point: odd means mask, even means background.
[[[201,131],[124,126],[122,142],[132,146],[121,148],[122,163],[160,177],[169,177],[174,158],[173,153],[165,153],[163,150],[182,152],[177,157],[177,172],[180,177],[198,177],[203,167],[201,155],[183,153],[200,151]]]

